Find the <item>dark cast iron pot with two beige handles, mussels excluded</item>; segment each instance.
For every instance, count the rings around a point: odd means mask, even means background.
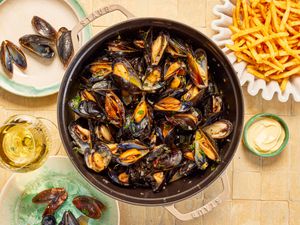
[[[167,206],[166,208],[181,220],[198,217],[221,203],[224,193],[228,189],[228,184],[224,176],[222,176],[224,186],[223,194],[220,194],[216,199],[209,202],[204,208],[201,207],[191,213],[180,214],[172,204],[189,198],[208,187],[222,175],[234,156],[242,133],[244,112],[242,92],[236,73],[223,52],[199,31],[185,24],[168,19],[133,18],[130,12],[119,5],[111,5],[99,9],[81,21],[80,24],[72,30],[74,47],[77,47],[77,34],[82,28],[96,18],[115,10],[121,11],[127,16],[128,20],[107,28],[81,47],[70,63],[62,80],[58,97],[58,124],[64,147],[79,173],[99,191],[117,200],[131,204]],[[74,96],[76,90],[78,90],[78,78],[83,68],[94,60],[100,51],[103,51],[103,44],[108,39],[115,38],[118,34],[121,34],[123,37],[130,36],[137,33],[139,29],[146,29],[148,27],[167,31],[171,36],[177,36],[183,40],[191,40],[195,47],[203,48],[206,51],[210,74],[214,76],[218,87],[222,90],[224,101],[228,106],[227,119],[232,121],[234,125],[231,142],[228,142],[220,152],[222,161],[215,170],[212,171],[208,169],[204,175],[187,177],[173,182],[159,193],[153,193],[150,189],[122,188],[111,183],[105,176],[88,170],[83,157],[72,150],[72,139],[68,134],[68,125],[74,119],[74,115],[68,107],[68,101]]]

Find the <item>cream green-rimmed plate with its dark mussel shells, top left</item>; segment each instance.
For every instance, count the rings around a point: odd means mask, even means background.
[[[0,0],[0,87],[41,97],[58,91],[74,55],[71,29],[84,18],[77,0]],[[79,39],[91,37],[90,27]]]

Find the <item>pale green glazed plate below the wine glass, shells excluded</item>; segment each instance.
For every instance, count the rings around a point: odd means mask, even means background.
[[[72,200],[78,195],[88,195],[99,199],[106,206],[100,220],[90,220],[89,225],[119,224],[118,202],[88,184],[67,157],[54,156],[38,170],[15,173],[7,181],[0,194],[1,225],[40,225],[46,205],[33,204],[32,197],[52,187],[64,187],[68,191],[67,201],[55,213],[58,222],[66,210],[71,210],[76,218],[82,215],[73,206]]]

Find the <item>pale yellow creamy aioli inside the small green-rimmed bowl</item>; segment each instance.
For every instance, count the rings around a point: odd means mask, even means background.
[[[254,121],[247,133],[247,142],[255,151],[267,154],[280,148],[285,138],[282,125],[275,119],[262,117]]]

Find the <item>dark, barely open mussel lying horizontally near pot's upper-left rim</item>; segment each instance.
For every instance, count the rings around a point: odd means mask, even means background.
[[[138,52],[139,50],[128,41],[117,39],[107,43],[107,53],[113,57],[134,56]]]

